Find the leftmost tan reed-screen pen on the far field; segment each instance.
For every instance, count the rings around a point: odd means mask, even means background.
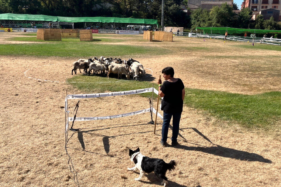
[[[38,29],[37,40],[61,41],[59,29]]]

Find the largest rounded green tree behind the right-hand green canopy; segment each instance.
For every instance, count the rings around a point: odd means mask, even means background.
[[[210,23],[212,27],[233,27],[236,19],[233,8],[226,3],[223,3],[220,7],[215,6],[210,10]]]

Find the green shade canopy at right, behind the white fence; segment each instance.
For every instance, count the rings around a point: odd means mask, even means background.
[[[262,29],[238,29],[238,28],[231,28],[231,27],[196,27],[196,29],[203,30],[204,34],[208,32],[209,34],[224,34],[227,31],[228,34],[241,34],[244,32],[252,32],[256,34],[265,34],[268,32],[278,32],[275,30],[262,30]]]

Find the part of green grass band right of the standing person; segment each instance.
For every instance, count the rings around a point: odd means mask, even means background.
[[[210,90],[186,89],[184,103],[246,128],[268,129],[281,120],[281,92],[241,95]]]

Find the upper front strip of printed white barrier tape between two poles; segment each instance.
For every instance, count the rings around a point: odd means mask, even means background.
[[[109,92],[109,93],[99,93],[99,94],[76,94],[76,95],[67,95],[67,99],[84,99],[84,98],[96,98],[96,97],[109,97],[117,95],[131,95],[131,94],[141,94],[152,92],[152,88],[144,88],[139,90],[129,90],[122,92]]]

